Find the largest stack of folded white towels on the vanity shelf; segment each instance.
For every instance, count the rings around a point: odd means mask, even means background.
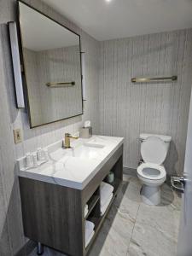
[[[113,186],[102,182],[100,185],[101,216],[106,212],[110,201],[113,198]]]

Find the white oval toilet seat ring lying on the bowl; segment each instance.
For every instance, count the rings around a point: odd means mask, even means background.
[[[137,174],[148,180],[160,180],[166,177],[166,170],[164,166],[159,166],[154,163],[143,163],[138,166]]]

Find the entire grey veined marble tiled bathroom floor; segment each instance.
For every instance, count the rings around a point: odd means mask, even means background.
[[[181,199],[164,184],[160,206],[151,207],[140,201],[140,189],[137,177],[124,176],[90,256],[176,255]],[[63,254],[45,248],[44,255]]]

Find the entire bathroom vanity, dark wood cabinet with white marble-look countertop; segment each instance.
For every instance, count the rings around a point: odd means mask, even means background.
[[[93,136],[49,147],[49,162],[26,170],[18,160],[25,236],[72,256],[86,255],[117,195],[123,173],[123,138]],[[113,172],[113,199],[101,216],[100,184]],[[88,212],[84,216],[84,207]],[[85,247],[85,220],[95,234]]]

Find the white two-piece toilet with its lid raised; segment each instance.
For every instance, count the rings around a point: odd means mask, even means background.
[[[140,135],[143,163],[137,167],[137,177],[143,184],[141,195],[148,205],[160,204],[160,185],[166,181],[166,160],[172,137],[143,133]]]

